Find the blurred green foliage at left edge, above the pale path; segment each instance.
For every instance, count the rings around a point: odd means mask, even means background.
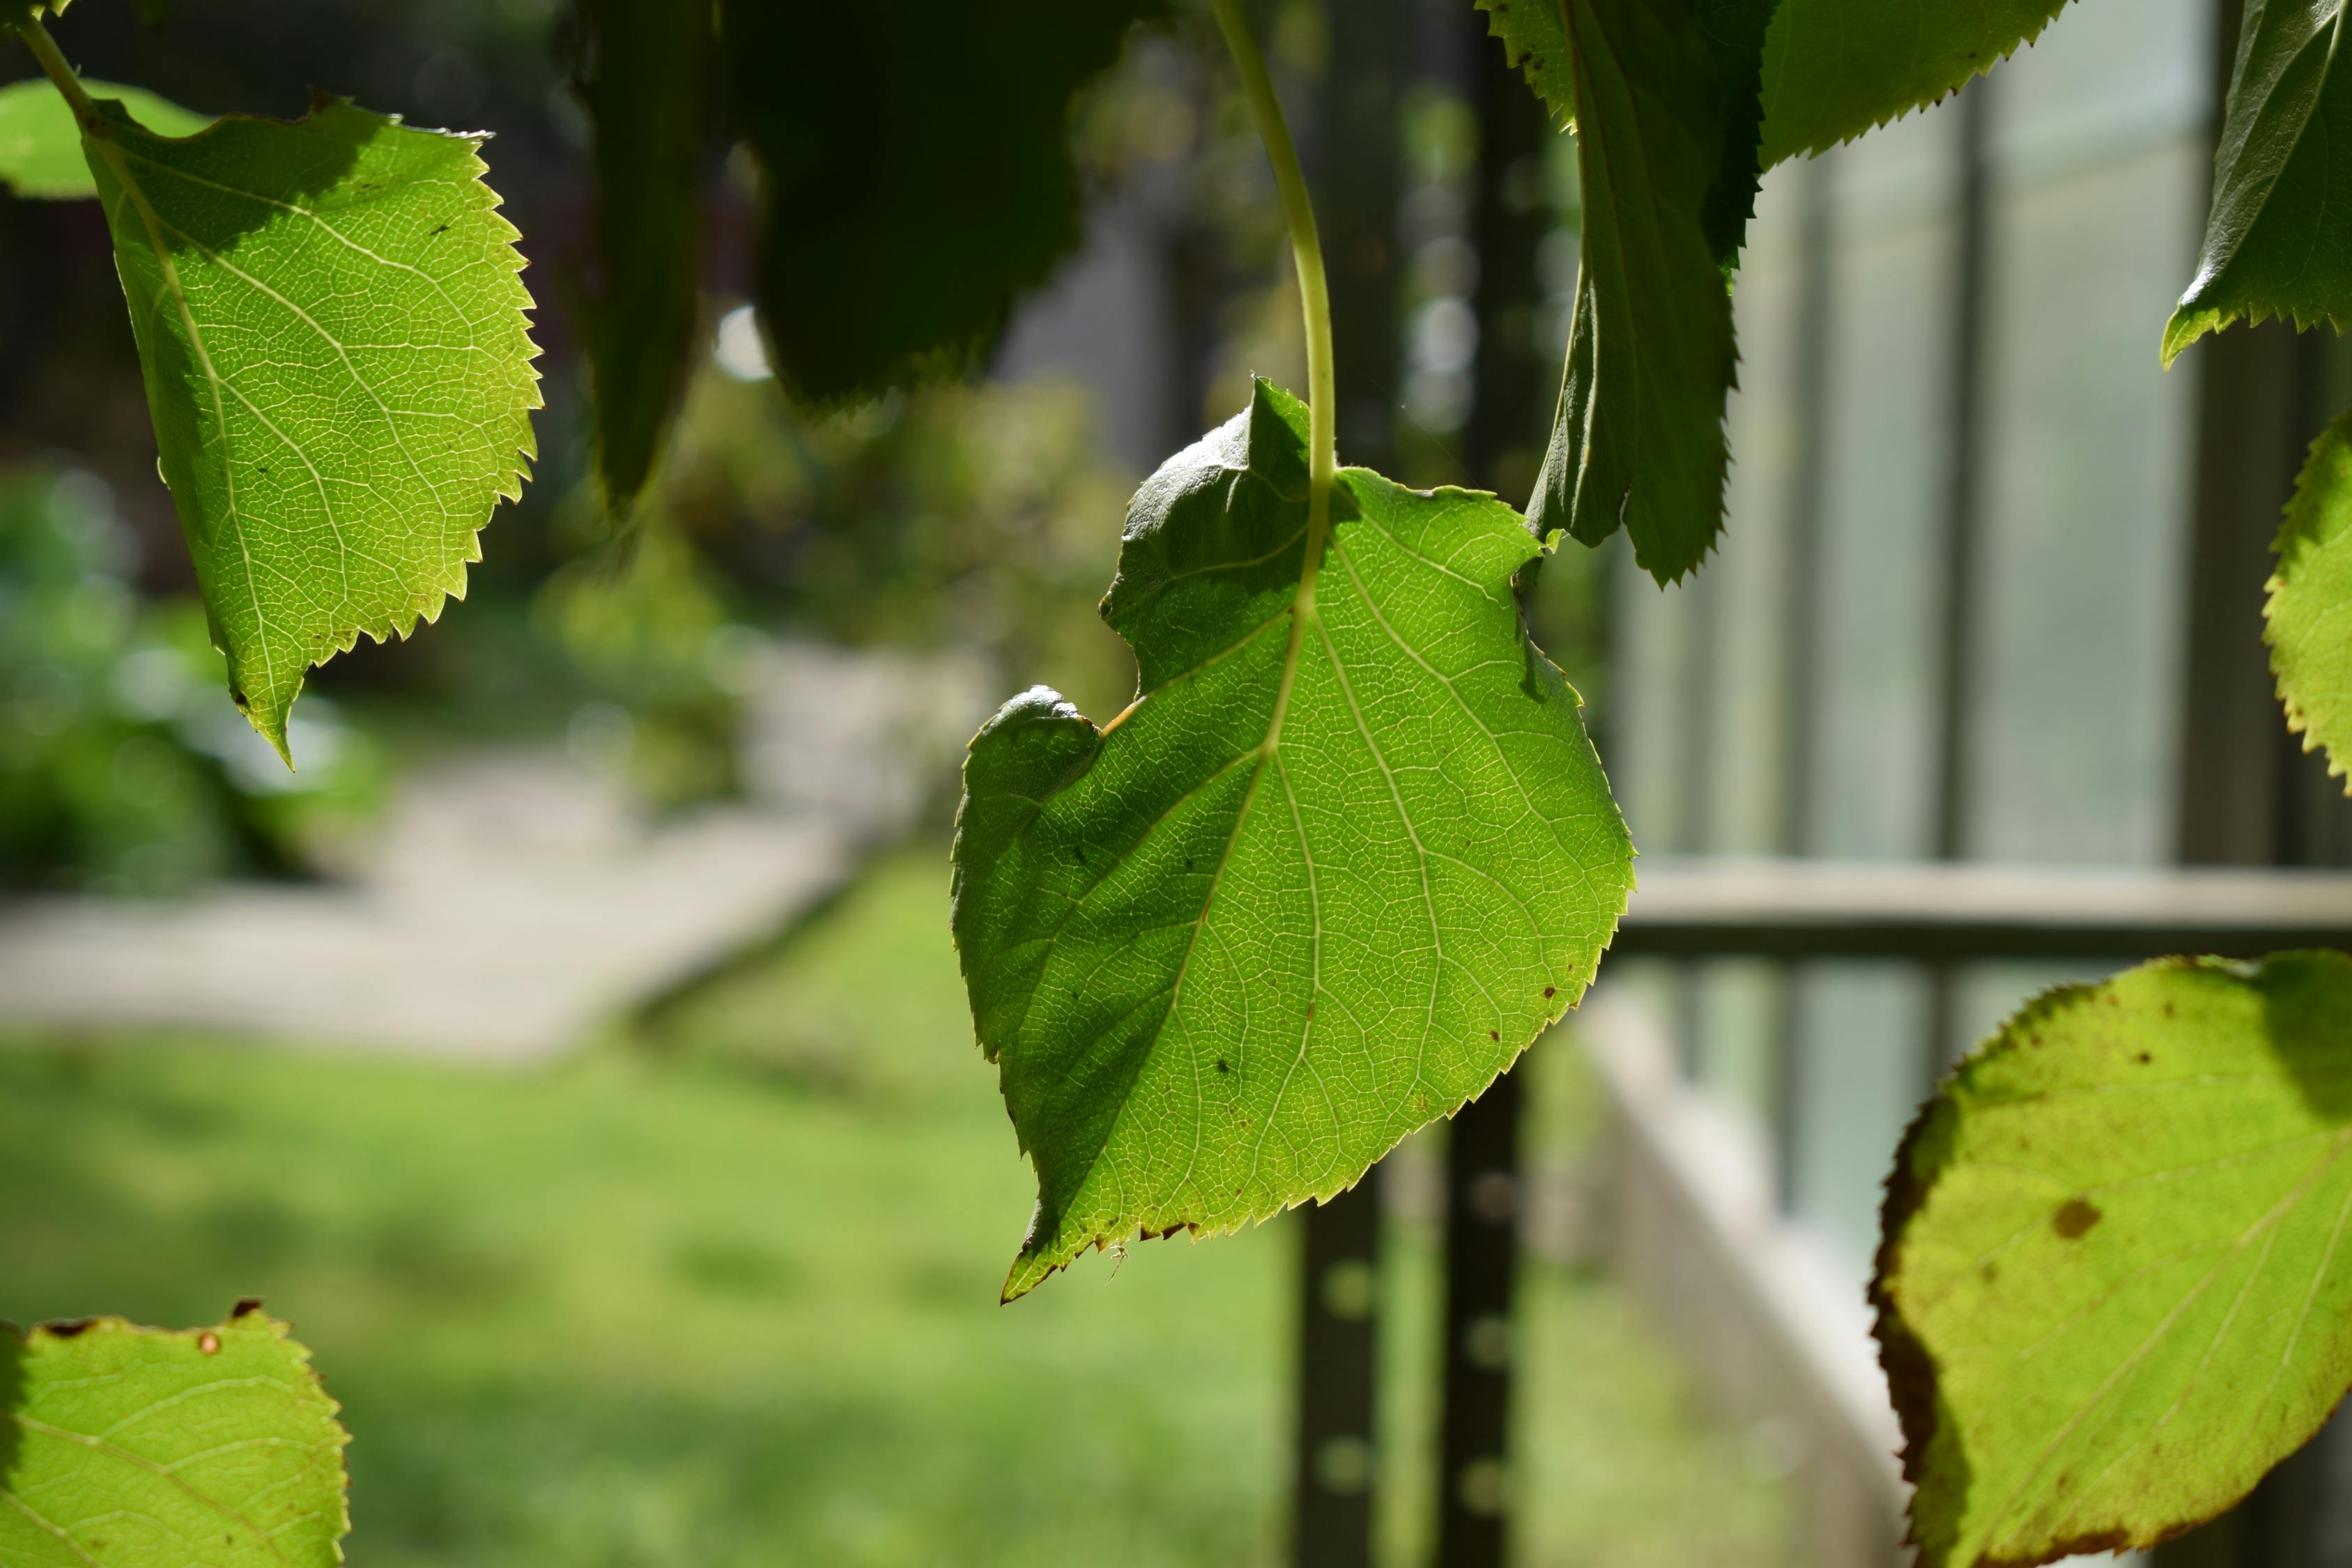
[[[329,703],[287,773],[221,701],[191,599],[141,604],[136,550],[85,470],[0,475],[0,886],[169,893],[332,863],[376,757]]]

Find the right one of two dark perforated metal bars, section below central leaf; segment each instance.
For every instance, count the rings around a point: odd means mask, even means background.
[[[1519,1267],[1519,1074],[1446,1140],[1446,1403],[1437,1568],[1503,1568],[1510,1544],[1512,1286]]]

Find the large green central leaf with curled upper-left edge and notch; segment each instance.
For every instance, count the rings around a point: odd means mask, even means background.
[[[1303,404],[1169,458],[1103,616],[1141,696],[1037,686],[964,764],[955,940],[1037,1168],[1007,1279],[1350,1187],[1566,1011],[1632,886],[1576,691],[1472,491],[1343,468],[1303,581]]]

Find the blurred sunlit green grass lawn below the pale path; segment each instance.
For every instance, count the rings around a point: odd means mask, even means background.
[[[1294,1227],[1000,1307],[1033,1187],[943,884],[936,851],[889,860],[539,1072],[9,1041],[0,1316],[263,1295],[346,1406],[360,1568],[1275,1563]],[[1564,1041],[1534,1065],[1576,1100]],[[1406,1568],[1435,1309],[1409,1227],[1395,1288]],[[1780,1561],[1778,1488],[1604,1281],[1536,1272],[1524,1387],[1526,1561]]]

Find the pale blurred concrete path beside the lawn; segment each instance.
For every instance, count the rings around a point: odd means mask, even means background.
[[[654,827],[562,752],[473,755],[402,788],[353,882],[5,905],[0,1020],[553,1056],[840,886],[943,783],[985,689],[797,649],[748,717],[746,806]]]

